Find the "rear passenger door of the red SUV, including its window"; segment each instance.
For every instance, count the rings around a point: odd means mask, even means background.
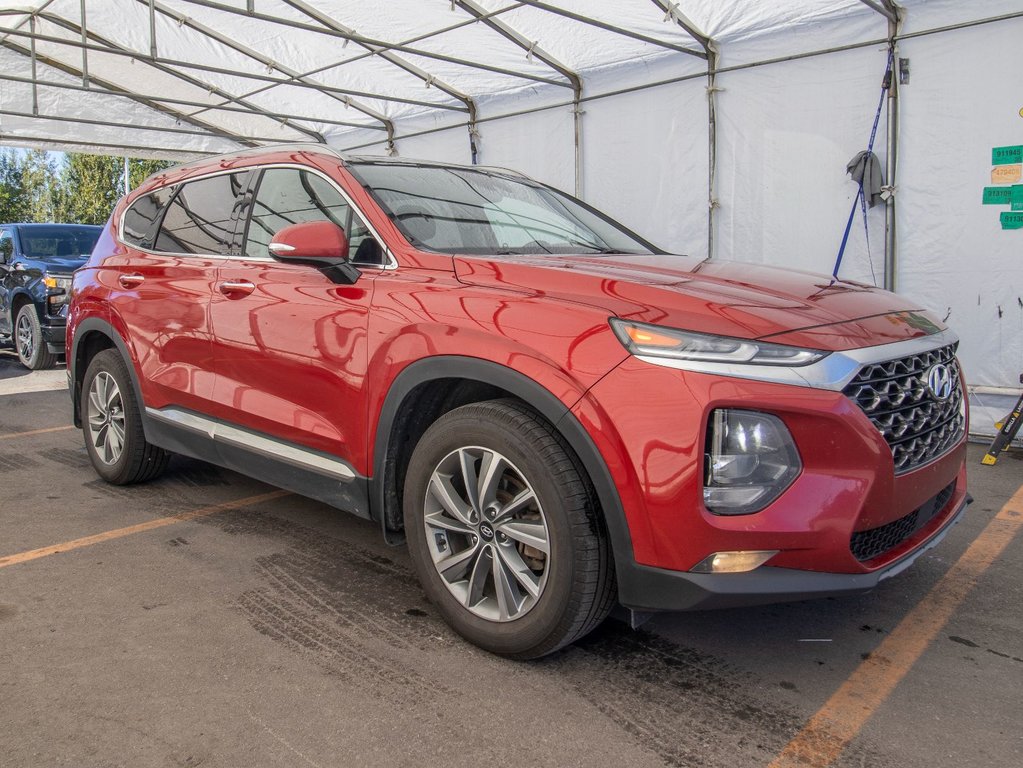
[[[210,300],[249,173],[216,174],[139,198],[123,220],[121,237],[131,247],[104,261],[108,274],[100,279],[116,286],[110,308],[133,348],[149,408],[213,407]]]

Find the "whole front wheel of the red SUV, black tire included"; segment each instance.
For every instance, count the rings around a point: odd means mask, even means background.
[[[468,473],[465,456],[474,467]],[[456,461],[460,468],[446,473]],[[480,490],[474,500],[465,490],[472,484],[463,479],[486,476],[485,462],[496,461],[503,462],[497,464],[500,479],[494,484],[477,482]],[[445,479],[460,494],[458,509],[465,519],[455,519],[455,513],[447,511],[449,506],[441,503],[446,490],[439,495],[435,490],[439,486],[433,484]],[[486,505],[480,498],[489,485],[504,489],[496,494],[532,501],[514,505],[488,493],[492,498]],[[520,511],[504,516],[510,509]],[[474,516],[478,524],[472,524]],[[488,519],[492,525],[486,525]],[[412,562],[431,601],[456,632],[486,650],[511,659],[545,656],[593,630],[614,605],[611,547],[589,481],[553,427],[517,401],[465,405],[427,430],[408,465],[404,522]],[[547,554],[522,543],[519,537],[527,527],[542,528],[546,538],[538,539],[542,543],[537,546],[545,546]],[[448,561],[470,550],[489,554],[485,559],[470,553],[474,563],[483,564],[466,566],[461,575],[456,573],[461,566],[447,568]],[[523,587],[526,581],[515,583],[510,578],[515,569],[498,573],[508,554],[530,568],[529,584],[534,579],[539,584],[537,595],[529,593],[528,585]],[[480,574],[490,569],[483,577],[487,581],[477,580],[477,569]],[[519,568],[518,574],[523,573]],[[510,594],[505,591],[503,599],[496,594],[499,578],[516,588]],[[517,604],[516,590],[523,600],[521,614],[508,608]]]

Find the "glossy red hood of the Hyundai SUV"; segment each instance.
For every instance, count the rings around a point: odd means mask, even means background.
[[[861,283],[671,255],[454,257],[468,284],[585,304],[618,317],[742,338],[844,350],[934,333],[911,300]]]

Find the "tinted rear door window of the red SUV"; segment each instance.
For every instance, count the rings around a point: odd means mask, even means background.
[[[247,173],[189,181],[167,207],[157,235],[157,251],[172,254],[222,254],[230,246],[231,212]]]

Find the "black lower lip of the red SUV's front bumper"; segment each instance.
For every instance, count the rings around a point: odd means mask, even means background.
[[[862,594],[909,568],[959,523],[973,498],[959,506],[929,539],[894,562],[865,574],[833,574],[765,566],[745,574],[691,574],[632,563],[619,568],[618,599],[633,612],[701,611],[817,597]]]

